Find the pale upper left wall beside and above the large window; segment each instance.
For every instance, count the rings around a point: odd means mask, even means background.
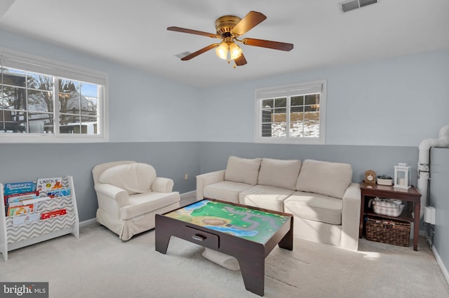
[[[109,74],[111,142],[196,141],[195,87],[0,30],[0,46]]]

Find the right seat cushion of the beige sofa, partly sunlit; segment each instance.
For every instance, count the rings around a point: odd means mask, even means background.
[[[326,222],[331,225],[342,224],[342,199],[314,194],[295,192],[283,202],[284,212],[298,218]]]

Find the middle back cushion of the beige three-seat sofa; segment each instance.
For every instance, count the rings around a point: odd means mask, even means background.
[[[301,161],[263,158],[257,184],[295,190]]]

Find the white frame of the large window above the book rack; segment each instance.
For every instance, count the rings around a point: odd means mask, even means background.
[[[1,47],[0,59],[5,67],[42,73],[57,78],[79,80],[85,83],[93,83],[100,87],[98,100],[100,110],[99,134],[60,134],[59,100],[57,100],[58,95],[55,95],[53,100],[55,105],[53,134],[1,133],[0,143],[100,143],[109,141],[109,76],[107,73]]]

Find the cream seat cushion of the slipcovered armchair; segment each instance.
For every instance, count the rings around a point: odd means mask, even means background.
[[[129,220],[140,215],[154,212],[180,201],[179,192],[145,192],[132,194],[126,206],[119,209],[121,220]]]

